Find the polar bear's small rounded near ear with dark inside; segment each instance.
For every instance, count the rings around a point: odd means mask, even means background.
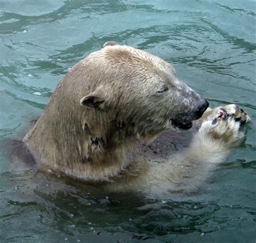
[[[86,107],[98,108],[100,104],[105,102],[104,86],[99,86],[95,91],[80,99],[80,104]]]

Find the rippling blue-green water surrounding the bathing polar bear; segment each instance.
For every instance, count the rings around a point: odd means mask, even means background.
[[[107,40],[149,51],[212,106],[256,120],[252,1],[0,2],[1,242],[255,242],[255,129],[199,193],[114,193],[50,172],[10,171],[68,69]]]

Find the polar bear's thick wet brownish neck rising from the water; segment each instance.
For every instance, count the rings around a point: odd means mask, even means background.
[[[24,138],[42,166],[77,178],[105,180],[133,161],[136,134],[126,124],[100,111],[84,112],[77,106],[72,114],[64,114],[61,108],[48,105]]]

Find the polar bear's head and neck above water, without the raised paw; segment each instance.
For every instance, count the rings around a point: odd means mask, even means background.
[[[23,141],[40,167],[108,180],[136,162],[138,141],[190,129],[207,107],[163,59],[107,42],[64,76]]]

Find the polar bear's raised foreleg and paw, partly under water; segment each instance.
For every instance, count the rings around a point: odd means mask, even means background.
[[[240,144],[244,138],[240,125],[248,121],[250,118],[237,105],[208,108],[205,116],[197,121],[200,128],[186,149],[161,160],[158,158],[157,163],[147,161],[147,165],[136,168],[137,177],[128,177],[110,188],[158,195],[197,190]]]

